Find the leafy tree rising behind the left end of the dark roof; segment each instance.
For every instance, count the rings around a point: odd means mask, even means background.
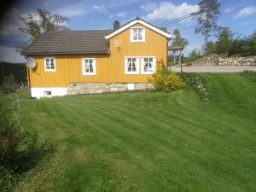
[[[37,9],[38,15],[28,14],[20,16],[25,24],[25,27],[19,28],[20,32],[25,32],[30,36],[33,42],[44,32],[68,30],[66,22],[68,18],[65,16],[51,14],[49,11]]]

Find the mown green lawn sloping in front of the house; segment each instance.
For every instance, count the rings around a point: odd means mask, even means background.
[[[209,102],[189,86],[22,101],[23,125],[55,154],[16,190],[256,191],[256,85],[239,73],[201,77]]]

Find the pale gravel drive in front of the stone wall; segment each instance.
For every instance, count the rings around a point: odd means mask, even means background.
[[[173,72],[180,72],[180,67],[172,66]],[[244,71],[256,72],[256,66],[193,66],[183,67],[183,72],[187,73],[238,73]]]

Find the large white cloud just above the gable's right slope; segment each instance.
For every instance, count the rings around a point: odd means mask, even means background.
[[[151,13],[144,16],[144,20],[172,20],[183,15],[189,15],[192,12],[199,10],[198,5],[190,5],[182,3],[174,5],[171,2],[161,2],[155,6]]]

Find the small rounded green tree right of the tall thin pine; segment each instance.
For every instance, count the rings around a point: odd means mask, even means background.
[[[223,27],[218,32],[217,49],[218,54],[227,54],[233,44],[233,32],[229,27]]]

